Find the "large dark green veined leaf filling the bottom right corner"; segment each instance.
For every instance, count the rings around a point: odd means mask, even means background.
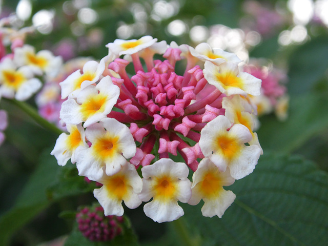
[[[328,175],[300,157],[265,155],[252,174],[227,187],[236,200],[218,217],[188,206],[201,245],[316,245],[328,241]]]

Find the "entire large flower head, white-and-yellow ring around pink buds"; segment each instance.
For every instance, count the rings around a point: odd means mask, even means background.
[[[146,202],[148,217],[173,221],[184,214],[178,201],[203,200],[203,216],[221,217],[235,199],[223,187],[252,173],[262,154],[249,99],[261,80],[207,43],[144,36],[107,47],[60,83],[68,133],[51,152],[58,165],[71,159],[103,185],[94,196],[105,215],[124,214],[122,201]]]

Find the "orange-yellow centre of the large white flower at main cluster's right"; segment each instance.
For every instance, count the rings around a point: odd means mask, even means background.
[[[216,149],[220,151],[228,160],[232,160],[240,153],[240,145],[238,144],[237,139],[228,135],[218,136],[216,145]]]

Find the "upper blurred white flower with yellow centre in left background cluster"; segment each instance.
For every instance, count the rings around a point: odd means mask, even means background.
[[[30,45],[17,47],[14,52],[14,61],[18,66],[31,67],[36,74],[39,74],[38,70],[44,71],[50,77],[55,77],[63,64],[60,56],[54,56],[49,50],[40,50],[35,53],[34,47]]]

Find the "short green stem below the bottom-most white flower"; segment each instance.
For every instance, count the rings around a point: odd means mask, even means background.
[[[180,217],[177,220],[172,221],[171,223],[172,223],[174,231],[176,232],[180,241],[184,243],[184,245],[188,245],[188,246],[201,245],[199,235],[190,233],[190,231],[187,228],[187,223],[182,217]]]

